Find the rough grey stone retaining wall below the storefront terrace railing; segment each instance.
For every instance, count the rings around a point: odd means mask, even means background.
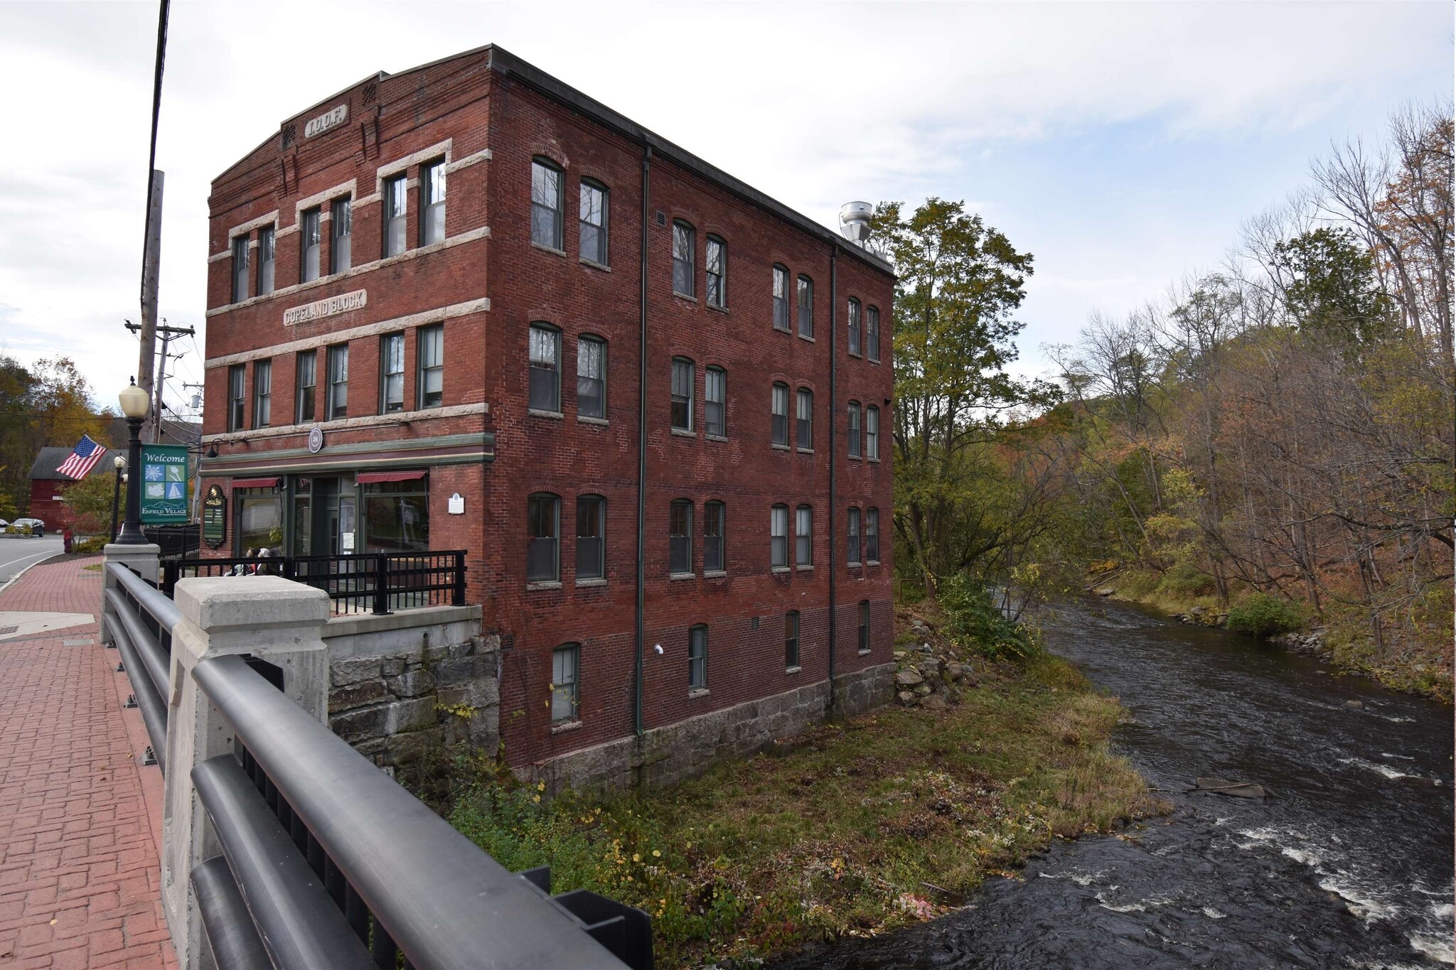
[[[479,630],[479,606],[331,620],[329,727],[389,769],[456,745],[494,756],[499,637]]]

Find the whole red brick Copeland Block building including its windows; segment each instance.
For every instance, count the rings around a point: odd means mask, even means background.
[[[495,47],[323,99],[210,207],[218,553],[469,550],[513,765],[888,685],[881,257]]]

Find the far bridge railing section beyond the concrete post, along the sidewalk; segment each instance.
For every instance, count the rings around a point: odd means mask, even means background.
[[[151,742],[151,759],[143,755],[143,763],[154,761],[166,772],[172,628],[182,614],[172,599],[121,563],[106,563],[106,574],[115,586],[103,593],[102,615]]]

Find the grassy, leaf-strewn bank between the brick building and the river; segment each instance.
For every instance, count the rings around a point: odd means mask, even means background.
[[[677,967],[932,918],[1053,838],[1156,809],[1107,750],[1115,700],[1056,657],[971,666],[945,710],[826,724],[641,795],[545,800],[482,777],[450,820],[513,870],[550,865],[553,891],[648,910],[658,966]]]

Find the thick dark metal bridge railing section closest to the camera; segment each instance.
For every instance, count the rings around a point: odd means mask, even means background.
[[[223,846],[191,874],[221,970],[651,969],[646,913],[550,897],[545,868],[510,873],[290,701],[281,676],[240,656],[192,670],[233,730],[232,755],[192,769]]]

